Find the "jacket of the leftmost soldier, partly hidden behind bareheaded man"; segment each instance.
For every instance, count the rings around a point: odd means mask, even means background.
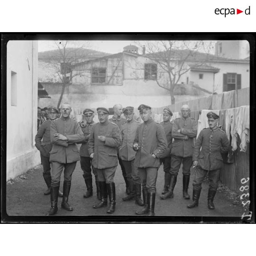
[[[45,157],[50,157],[51,142],[50,142],[50,124],[52,121],[47,120],[42,123],[35,136],[35,146],[40,153]],[[43,139],[43,140],[42,140]]]

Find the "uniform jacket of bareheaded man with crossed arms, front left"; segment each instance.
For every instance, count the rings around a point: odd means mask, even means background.
[[[54,134],[62,134],[68,141],[56,140]],[[72,163],[80,160],[79,150],[75,144],[83,140],[83,132],[77,121],[70,117],[60,117],[54,120],[50,125],[50,140],[52,150],[50,151],[50,161],[59,163]]]

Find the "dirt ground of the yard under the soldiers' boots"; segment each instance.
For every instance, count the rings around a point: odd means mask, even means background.
[[[189,195],[192,197],[192,181],[194,173],[191,173],[189,183]],[[134,200],[124,202],[122,197],[125,194],[125,183],[122,177],[120,166],[117,167],[114,178],[116,184],[116,211],[115,216],[136,216],[135,211],[140,207],[135,205]],[[61,184],[63,182],[63,174]],[[161,216],[206,216],[206,217],[240,217],[244,209],[241,205],[235,205],[228,196],[218,189],[215,196],[215,210],[209,210],[207,207],[207,181],[202,186],[199,207],[194,209],[187,208],[187,204],[192,200],[184,200],[182,196],[182,170],[178,175],[177,184],[174,189],[174,198],[161,200],[159,196],[164,183],[163,166],[158,170],[156,183],[156,206],[155,214]],[[93,181],[94,195],[90,198],[83,198],[85,184],[82,176],[80,162],[77,162],[76,169],[72,175],[72,186],[69,195],[69,203],[73,206],[73,211],[61,209],[59,198],[59,216],[109,216],[106,213],[107,208],[93,209],[92,206],[98,203],[95,193],[95,182]],[[45,216],[50,209],[50,195],[44,195],[46,189],[42,176],[42,166],[39,165],[19,177],[9,180],[6,183],[6,211],[9,216]],[[62,191],[62,188],[61,188]],[[236,203],[237,204],[237,203]]]

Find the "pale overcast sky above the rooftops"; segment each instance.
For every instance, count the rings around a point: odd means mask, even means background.
[[[49,41],[49,40],[40,40],[38,41],[38,51],[46,51],[46,50],[55,50],[57,48],[56,43],[58,41]],[[118,53],[123,51],[123,47],[127,45],[134,45],[135,41],[69,41],[70,44],[68,47],[81,47],[92,49],[92,50],[98,50],[103,51],[106,53]],[[138,42],[138,41],[137,41]],[[206,44],[209,41],[205,41]],[[213,45],[215,41],[212,41]],[[139,49],[139,53],[141,53],[141,49]],[[214,50],[211,51],[212,54],[214,54]]]

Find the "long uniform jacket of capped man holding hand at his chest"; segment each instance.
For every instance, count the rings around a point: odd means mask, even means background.
[[[97,137],[105,136],[106,141]],[[109,122],[96,123],[88,141],[89,155],[94,153],[92,165],[97,169],[106,169],[117,166],[117,147],[122,144],[120,130],[117,124]]]

